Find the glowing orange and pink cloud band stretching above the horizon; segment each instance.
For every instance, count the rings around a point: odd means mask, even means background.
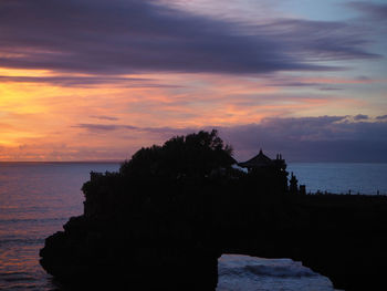
[[[290,94],[251,76],[121,75],[98,84],[88,75],[87,84],[65,86],[50,83],[48,77],[64,77],[50,71],[0,69],[0,75],[21,77],[0,83],[0,160],[123,159],[167,138],[161,131],[140,128],[234,126],[271,116],[339,114],[359,106],[343,96]],[[44,79],[29,82],[24,76]],[[80,124],[100,125],[100,131]]]

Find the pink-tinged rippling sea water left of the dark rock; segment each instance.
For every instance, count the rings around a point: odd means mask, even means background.
[[[54,290],[39,264],[44,239],[83,212],[90,172],[117,164],[0,163],[0,290]]]

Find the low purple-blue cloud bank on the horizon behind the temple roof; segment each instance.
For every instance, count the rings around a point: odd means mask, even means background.
[[[386,163],[387,122],[348,122],[348,116],[269,118],[221,128],[240,159],[263,148],[291,162]]]

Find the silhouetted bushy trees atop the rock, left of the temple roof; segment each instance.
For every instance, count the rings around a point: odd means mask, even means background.
[[[163,146],[142,148],[122,164],[119,173],[129,177],[205,177],[212,170],[228,168],[236,160],[232,148],[224,145],[218,132],[201,131],[176,136]]]

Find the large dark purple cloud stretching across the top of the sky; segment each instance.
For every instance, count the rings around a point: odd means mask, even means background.
[[[341,22],[251,27],[147,0],[1,0],[0,35],[2,66],[103,74],[332,70],[315,61],[378,56]]]

